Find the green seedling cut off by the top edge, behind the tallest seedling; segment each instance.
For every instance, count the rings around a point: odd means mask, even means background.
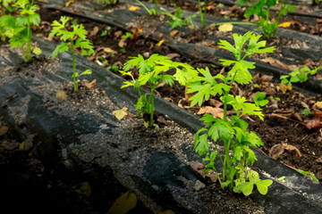
[[[250,0],[237,0],[237,4],[239,6],[249,2]],[[279,3],[281,6],[278,11],[277,18],[273,20],[270,19],[269,12],[270,8],[275,6],[277,3]],[[286,0],[258,0],[246,8],[244,16],[248,19],[252,15],[257,15],[259,17],[258,26],[263,31],[264,36],[267,38],[272,38],[275,37],[275,32],[281,17],[287,15],[288,12],[292,12],[295,9],[295,6],[286,4]]]

